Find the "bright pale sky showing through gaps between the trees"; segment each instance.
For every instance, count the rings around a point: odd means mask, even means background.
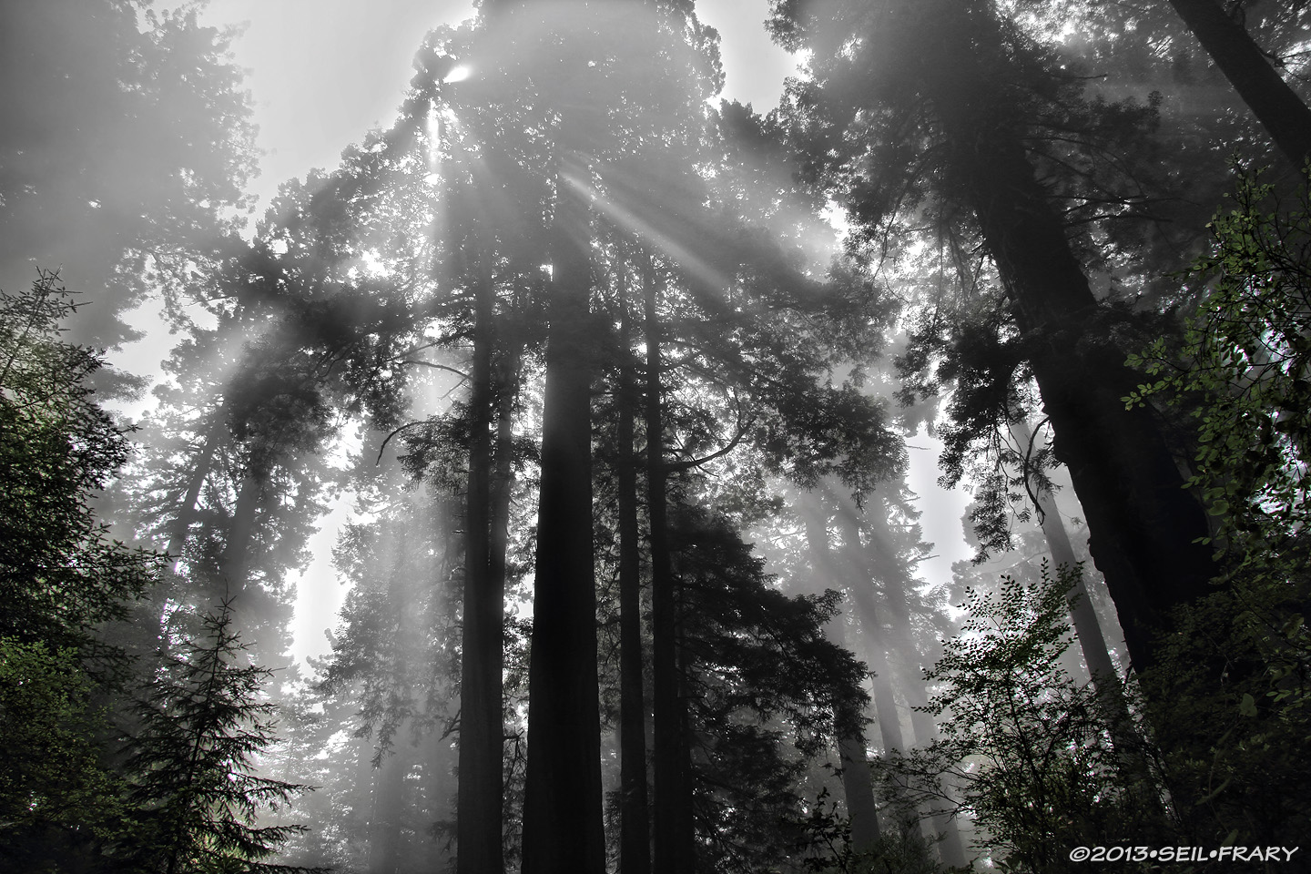
[[[701,0],[703,21],[722,38],[724,96],[756,110],[777,105],[792,58],[764,30],[768,0]],[[311,168],[333,168],[342,148],[391,123],[413,69],[410,59],[423,34],[473,13],[464,0],[211,0],[207,24],[248,22],[233,42],[244,67],[260,126],[262,173],[253,183],[264,212],[278,185]],[[961,540],[960,493],[936,487],[936,443],[911,440],[911,487],[922,495],[924,536],[940,558],[922,567],[931,579],[949,577],[950,562],[966,554]],[[299,583],[294,622],[298,658],[328,650],[324,629],[336,625],[343,590],[330,566],[336,529],[346,507],[328,516],[313,539],[313,565]]]

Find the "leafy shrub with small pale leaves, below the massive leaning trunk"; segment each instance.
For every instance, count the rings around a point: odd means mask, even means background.
[[[1108,708],[1061,667],[1071,583],[1044,567],[1034,586],[1003,578],[996,592],[969,591],[961,633],[926,674],[941,684],[929,702],[941,738],[882,764],[911,803],[939,794],[945,776],[974,814],[979,849],[1009,870],[1065,870],[1072,846],[1142,843],[1163,826],[1130,751],[1112,747]]]

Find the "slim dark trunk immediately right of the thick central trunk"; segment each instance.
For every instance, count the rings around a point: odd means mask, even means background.
[[[650,810],[646,802],[646,705],[642,696],[641,566],[637,542],[637,402],[631,349],[628,278],[619,266],[619,785],[620,874],[650,874]]]

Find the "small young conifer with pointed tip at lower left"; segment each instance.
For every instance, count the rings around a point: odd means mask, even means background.
[[[140,871],[245,874],[315,870],[266,862],[304,826],[256,824],[309,788],[256,776],[277,742],[277,706],[260,701],[267,668],[243,666],[245,646],[223,604],[203,617],[205,636],[168,655],[135,712],[142,729],[128,767],[143,819]]]

